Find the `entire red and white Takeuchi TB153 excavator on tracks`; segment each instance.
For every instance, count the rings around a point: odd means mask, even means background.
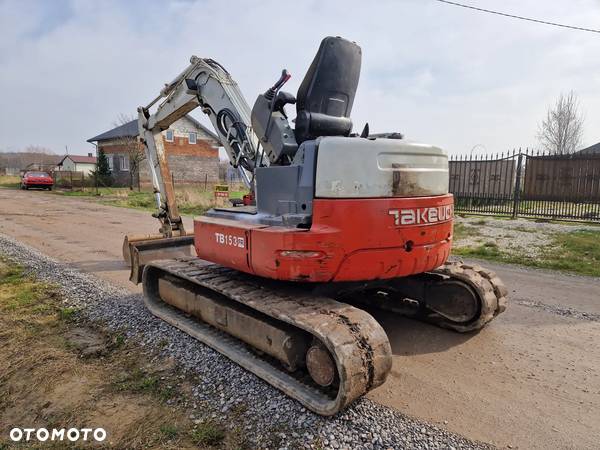
[[[444,151],[400,133],[372,136],[368,125],[352,133],[360,66],[356,43],[327,37],[296,96],[282,90],[284,70],[250,109],[223,66],[193,56],[138,109],[161,226],[126,237],[124,255],[146,306],[323,415],[391,369],[387,335],[365,308],[458,332],[506,308],[493,272],[447,262]],[[293,128],[287,105],[296,107]],[[161,132],[198,107],[250,193],[194,218],[189,233]]]

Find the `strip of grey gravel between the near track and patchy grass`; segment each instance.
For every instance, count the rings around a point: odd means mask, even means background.
[[[129,337],[196,375],[194,418],[244,428],[253,447],[325,449],[491,448],[417,421],[368,399],[323,418],[241,369],[227,358],[152,316],[140,295],[50,259],[0,234],[0,255],[41,280],[57,284],[66,305],[87,319]],[[240,411],[243,411],[240,413]],[[234,418],[228,420],[229,415]]]

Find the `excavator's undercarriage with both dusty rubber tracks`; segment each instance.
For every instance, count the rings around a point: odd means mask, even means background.
[[[385,331],[358,306],[467,332],[506,305],[493,272],[461,263],[336,291],[182,258],[148,264],[143,286],[153,314],[322,415],[380,386],[391,369]]]

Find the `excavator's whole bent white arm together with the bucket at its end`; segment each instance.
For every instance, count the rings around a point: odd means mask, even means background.
[[[154,105],[157,107],[152,113]],[[135,283],[141,281],[149,261],[192,254],[193,234],[186,232],[177,208],[162,132],[198,107],[209,117],[246,186],[253,189],[252,172],[260,153],[250,125],[248,103],[219,63],[192,56],[189,66],[165,84],[156,98],[138,108],[139,139],[150,167],[157,207],[153,215],[160,221],[160,228],[158,234],[125,237],[123,257],[131,267],[130,279]],[[263,162],[267,164],[268,161]]]

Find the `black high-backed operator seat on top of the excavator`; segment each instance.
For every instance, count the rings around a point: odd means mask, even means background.
[[[319,136],[348,136],[360,77],[361,49],[341,37],[326,37],[296,96],[294,134],[300,145]]]

